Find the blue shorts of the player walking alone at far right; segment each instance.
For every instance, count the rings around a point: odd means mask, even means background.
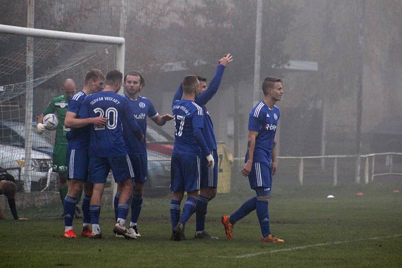
[[[248,175],[248,181],[251,189],[264,187],[265,192],[271,191],[271,166],[265,162],[253,162],[251,172]]]

